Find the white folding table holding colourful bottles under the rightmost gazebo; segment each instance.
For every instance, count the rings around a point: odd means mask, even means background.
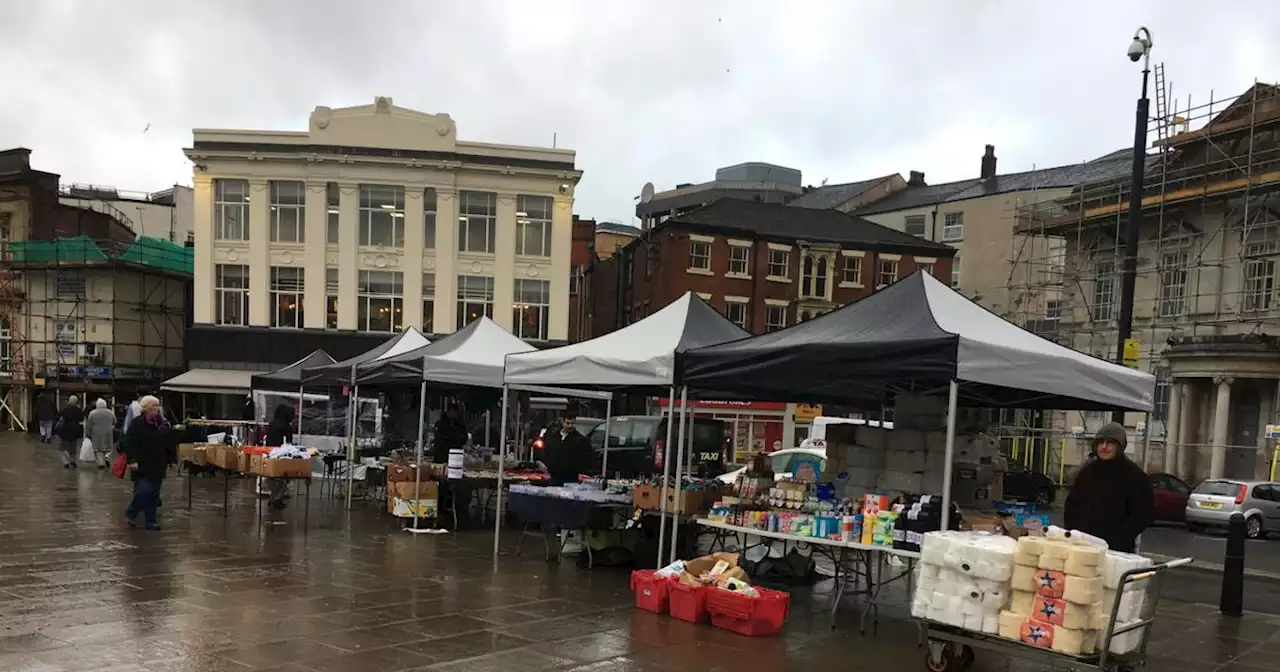
[[[776,540],[782,541],[783,544],[808,544],[813,550],[818,550],[819,548],[829,549],[829,553],[824,552],[824,554],[832,559],[836,567],[836,596],[831,604],[831,626],[836,626],[836,611],[840,608],[840,600],[844,599],[846,594],[867,595],[867,604],[863,607],[861,618],[859,620],[858,626],[858,631],[864,634],[867,631],[868,616],[873,617],[873,623],[879,622],[879,595],[883,586],[896,581],[906,581],[906,591],[909,595],[911,594],[911,570],[914,570],[915,562],[920,558],[918,552],[896,549],[893,547],[771,532],[767,530],[728,525],[707,518],[699,518],[698,525],[718,531],[717,539],[712,541],[713,548],[717,543],[721,548],[724,548],[724,538],[733,535],[737,538],[756,536],[762,540]],[[765,545],[767,544],[768,543],[765,543]],[[748,547],[744,544],[742,552],[745,552],[746,548]],[[906,568],[896,575],[891,575],[888,579],[884,579],[884,566],[891,556],[906,561]],[[850,573],[852,577],[850,577]],[[864,588],[860,590],[858,589],[858,585],[860,584],[859,579],[865,580]],[[854,584],[855,590],[852,593],[849,593],[850,582]]]

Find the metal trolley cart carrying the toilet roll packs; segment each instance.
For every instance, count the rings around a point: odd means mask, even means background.
[[[1117,598],[1111,605],[1106,630],[1098,631],[1097,653],[1071,655],[995,635],[920,620],[928,637],[925,668],[929,672],[964,672],[973,664],[974,652],[979,649],[1068,669],[1120,672],[1140,667],[1147,662],[1147,641],[1151,639],[1151,623],[1156,618],[1156,607],[1160,603],[1160,590],[1165,581],[1165,573],[1174,567],[1190,564],[1190,562],[1192,558],[1180,558],[1143,570],[1130,570],[1121,575],[1116,595],[1123,595],[1125,590],[1135,585],[1146,584],[1142,586],[1146,590],[1142,613],[1137,621],[1117,627],[1116,614],[1120,611],[1120,599]],[[1111,641],[1133,631],[1140,631],[1138,646],[1123,655],[1112,654]]]

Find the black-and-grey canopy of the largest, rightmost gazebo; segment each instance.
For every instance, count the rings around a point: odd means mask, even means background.
[[[682,355],[690,390],[882,402],[945,393],[968,406],[1151,411],[1156,380],[1046,340],[927,273],[817,319]]]

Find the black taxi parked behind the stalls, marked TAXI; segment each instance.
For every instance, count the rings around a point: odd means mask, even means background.
[[[690,419],[692,428],[692,460],[698,465],[703,456],[728,452],[726,425],[709,417]],[[678,420],[676,428],[678,429]],[[604,429],[602,420],[586,435],[596,453],[604,452]],[[609,474],[635,477],[663,471],[663,456],[667,443],[667,417],[649,415],[620,415],[609,419]],[[687,428],[686,428],[687,430]],[[675,436],[672,436],[675,440]],[[678,444],[677,444],[678,445]],[[690,453],[686,453],[686,456]],[[676,447],[671,448],[671,458],[676,458]],[[687,457],[686,457],[687,462]]]

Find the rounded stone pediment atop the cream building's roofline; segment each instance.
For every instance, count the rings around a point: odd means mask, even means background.
[[[372,105],[316,108],[308,134],[315,145],[452,152],[458,128],[448,114],[397,108],[379,96]]]

